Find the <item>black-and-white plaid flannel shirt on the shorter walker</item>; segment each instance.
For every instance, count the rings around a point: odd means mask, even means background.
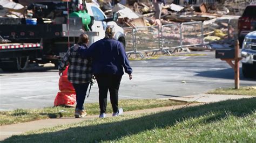
[[[87,48],[87,46],[72,46],[68,52],[66,52],[58,67],[60,71],[63,71],[66,66],[69,65],[68,80],[75,84],[90,82],[92,78],[92,60],[83,59],[77,52],[79,48]]]

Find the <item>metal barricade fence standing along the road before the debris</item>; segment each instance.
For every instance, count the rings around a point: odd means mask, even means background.
[[[124,28],[126,53],[161,51],[171,54],[187,47],[205,46],[213,42],[224,43],[238,38],[238,19],[214,19],[208,22],[188,22],[159,26]]]

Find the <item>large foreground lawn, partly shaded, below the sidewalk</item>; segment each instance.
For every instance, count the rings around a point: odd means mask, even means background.
[[[154,114],[93,119],[3,142],[256,142],[256,97]]]

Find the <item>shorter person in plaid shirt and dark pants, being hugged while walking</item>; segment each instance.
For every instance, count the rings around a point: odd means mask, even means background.
[[[92,78],[91,60],[82,58],[77,51],[79,48],[88,48],[88,42],[88,35],[81,34],[78,39],[78,44],[72,46],[68,52],[66,52],[58,67],[59,76],[62,76],[62,72],[65,70],[66,66],[69,65],[68,80],[73,84],[76,90],[76,118],[82,118],[87,114],[83,105],[86,91]]]

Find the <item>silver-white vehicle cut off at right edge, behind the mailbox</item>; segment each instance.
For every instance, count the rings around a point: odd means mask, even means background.
[[[245,36],[242,43],[242,75],[244,77],[256,76],[256,31]]]

